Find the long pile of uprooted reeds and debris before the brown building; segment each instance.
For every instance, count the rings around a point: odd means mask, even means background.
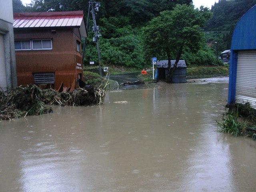
[[[57,92],[54,89],[41,90],[36,85],[17,87],[6,93],[0,91],[0,120],[52,112],[52,108],[45,104],[100,105],[104,101],[105,94],[103,89],[92,86],[78,88],[73,92]]]

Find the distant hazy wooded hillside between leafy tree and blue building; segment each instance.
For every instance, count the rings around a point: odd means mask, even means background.
[[[206,41],[218,52],[230,49],[237,21],[256,4],[256,0],[219,0],[212,6],[212,17],[206,23]]]

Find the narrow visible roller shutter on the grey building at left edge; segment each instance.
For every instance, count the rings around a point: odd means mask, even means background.
[[[6,67],[4,57],[4,36],[0,34],[0,87],[3,90],[7,89]]]

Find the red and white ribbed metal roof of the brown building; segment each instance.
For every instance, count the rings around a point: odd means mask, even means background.
[[[83,11],[14,13],[14,28],[80,27]]]

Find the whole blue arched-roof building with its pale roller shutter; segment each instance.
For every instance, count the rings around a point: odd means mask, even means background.
[[[253,21],[253,22],[252,22]],[[256,6],[238,21],[231,43],[228,104],[256,109]]]

